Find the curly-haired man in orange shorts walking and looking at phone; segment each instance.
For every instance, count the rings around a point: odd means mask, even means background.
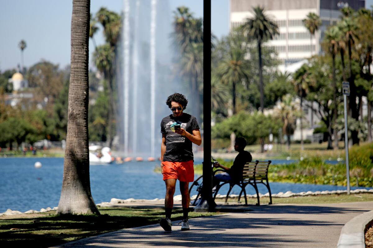
[[[189,230],[189,182],[194,181],[192,143],[201,145],[201,133],[197,119],[184,113],[188,100],[179,93],[172,94],[166,100],[172,114],[166,116],[161,122],[161,168],[163,181],[166,183],[166,197],[164,208],[166,218],[160,220],[164,231],[171,231],[171,212],[173,207],[173,194],[176,180],[180,181],[182,196],[183,221],[181,231]]]

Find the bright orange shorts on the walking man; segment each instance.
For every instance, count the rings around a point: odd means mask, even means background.
[[[194,181],[193,160],[186,162],[163,161],[163,180],[179,179],[181,182]]]

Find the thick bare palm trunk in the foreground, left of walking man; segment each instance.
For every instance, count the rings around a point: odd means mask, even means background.
[[[88,152],[88,40],[90,0],[73,0],[68,129],[57,214],[99,215],[90,186]]]

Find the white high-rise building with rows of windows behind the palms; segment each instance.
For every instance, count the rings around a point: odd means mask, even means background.
[[[289,65],[321,51],[320,41],[327,26],[341,16],[340,9],[350,6],[354,10],[365,7],[365,0],[230,0],[230,28],[240,26],[252,17],[253,7],[264,7],[265,13],[279,26],[280,35],[266,42],[278,52],[278,58]],[[310,39],[303,19],[313,12],[320,16],[322,26]]]

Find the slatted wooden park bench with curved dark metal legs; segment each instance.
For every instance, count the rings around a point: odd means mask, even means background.
[[[214,200],[217,195],[217,192],[219,189],[224,185],[224,184],[229,184],[229,190],[228,193],[225,197],[225,203],[228,201],[229,194],[231,193],[231,190],[233,186],[237,185],[241,188],[241,192],[239,193],[238,196],[238,203],[240,202],[241,195],[244,193],[245,197],[245,205],[247,205],[247,197],[246,197],[246,190],[245,187],[250,184],[251,186],[254,187],[256,194],[257,194],[257,200],[258,203],[256,205],[260,205],[260,199],[259,199],[259,192],[258,192],[258,187],[257,184],[262,183],[264,184],[269,192],[269,199],[270,202],[269,204],[272,204],[272,194],[271,194],[271,189],[269,187],[268,183],[268,167],[270,165],[271,161],[255,161],[255,162],[247,162],[244,165],[244,169],[242,171],[242,180],[240,181],[221,181],[219,185],[216,186],[216,190],[214,192]],[[216,174],[218,171],[223,171],[225,170],[218,169],[214,171],[214,174]]]

